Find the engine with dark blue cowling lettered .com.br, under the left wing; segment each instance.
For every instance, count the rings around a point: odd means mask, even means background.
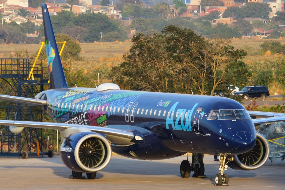
[[[70,135],[60,146],[60,158],[71,170],[97,172],[106,167],[112,156],[108,140],[95,132]]]

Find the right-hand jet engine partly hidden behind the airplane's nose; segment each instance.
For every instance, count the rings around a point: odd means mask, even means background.
[[[244,154],[234,156],[234,161],[227,165],[237,170],[253,170],[263,166],[269,157],[269,145],[260,133],[256,133],[256,142],[253,149]]]

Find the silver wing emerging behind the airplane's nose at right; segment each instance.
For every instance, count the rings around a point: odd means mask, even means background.
[[[285,121],[284,113],[273,113],[273,112],[262,112],[262,111],[247,111],[251,117],[262,117],[258,119],[252,119],[255,129],[258,130],[260,124],[263,123],[272,123],[278,121]]]

